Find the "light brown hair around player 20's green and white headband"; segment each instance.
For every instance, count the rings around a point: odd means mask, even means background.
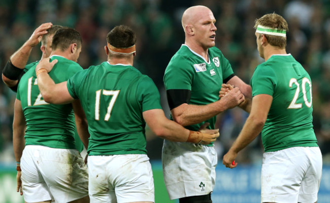
[[[276,13],[266,14],[266,15],[262,16],[261,18],[256,19],[254,28],[257,28],[258,25],[272,27],[272,28],[278,28],[279,30],[289,31],[286,20],[282,16],[280,16]],[[278,46],[281,49],[284,49],[286,47],[286,37],[267,35],[267,34],[263,34],[263,35],[266,36],[268,43],[270,45]],[[259,37],[261,37],[261,35],[259,35]]]

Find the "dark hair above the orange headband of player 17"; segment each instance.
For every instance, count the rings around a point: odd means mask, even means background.
[[[125,25],[115,26],[107,35],[107,42],[116,48],[128,48],[135,45],[137,37],[131,28]]]

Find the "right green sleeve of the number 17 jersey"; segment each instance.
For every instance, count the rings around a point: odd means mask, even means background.
[[[162,109],[158,89],[150,77],[144,76],[140,79],[138,91],[138,99],[142,104],[142,111]]]

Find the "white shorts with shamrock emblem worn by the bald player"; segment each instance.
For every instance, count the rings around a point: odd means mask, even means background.
[[[217,162],[214,147],[164,140],[162,166],[170,199],[212,192]]]

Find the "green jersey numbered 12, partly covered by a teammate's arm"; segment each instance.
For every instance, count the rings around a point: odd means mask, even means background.
[[[58,62],[49,72],[55,83],[67,81],[83,70],[76,62],[54,55]],[[26,120],[25,144],[57,149],[75,149],[75,118],[72,104],[46,103],[38,88],[36,65],[31,67],[18,84],[17,99],[21,101]]]

